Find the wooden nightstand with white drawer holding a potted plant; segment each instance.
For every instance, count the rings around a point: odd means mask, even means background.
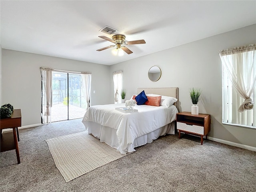
[[[207,139],[207,134],[211,129],[211,120],[208,114],[192,115],[190,112],[181,112],[176,114],[177,130],[185,134],[201,136],[201,145],[203,136]]]

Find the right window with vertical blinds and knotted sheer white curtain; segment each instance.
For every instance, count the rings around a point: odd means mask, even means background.
[[[220,51],[222,121],[256,128],[256,44]]]

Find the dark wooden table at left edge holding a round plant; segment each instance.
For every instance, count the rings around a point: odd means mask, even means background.
[[[1,139],[2,139],[2,130],[12,128],[17,161],[18,161],[18,164],[20,164],[20,152],[19,152],[19,146],[18,146],[18,141],[20,139],[19,139],[18,127],[21,127],[21,110],[20,109],[14,109],[11,117],[0,119]]]

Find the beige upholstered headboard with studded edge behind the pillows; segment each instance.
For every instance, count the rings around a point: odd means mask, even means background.
[[[178,87],[171,87],[171,88],[137,88],[137,94],[139,94],[142,91],[145,91],[145,94],[158,94],[158,95],[164,95],[169,97],[174,97],[178,99],[174,105],[178,109],[178,103],[179,103],[179,88]]]

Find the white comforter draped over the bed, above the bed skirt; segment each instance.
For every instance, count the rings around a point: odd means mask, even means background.
[[[163,127],[176,120],[177,108],[165,106],[134,106],[138,112],[122,113],[115,110],[116,107],[124,107],[124,104],[109,104],[91,106],[86,113],[82,122],[86,129],[87,122],[96,122],[102,126],[108,126],[116,129],[116,135],[120,146],[118,151],[125,154],[124,150],[128,144],[144,134],[148,134],[160,127]]]

